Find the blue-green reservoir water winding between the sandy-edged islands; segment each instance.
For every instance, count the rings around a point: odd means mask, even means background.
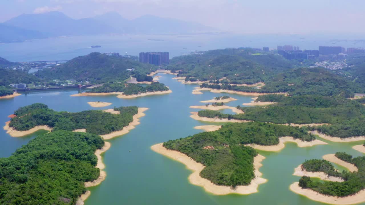
[[[196,85],[183,85],[174,77],[167,74],[160,82],[165,83],[173,93],[161,96],[147,96],[135,99],[119,99],[115,96],[87,96],[70,97],[77,90],[47,91],[23,94],[13,99],[0,100],[0,121],[8,121],[8,115],[24,105],[42,102],[57,111],[78,112],[88,109],[109,109],[114,106],[137,105],[150,108],[141,124],[128,134],[108,140],[112,143],[110,150],[104,153],[107,177],[99,186],[90,187],[91,196],[85,201],[86,205],[100,204],[260,204],[260,205],[316,205],[322,204],[311,201],[289,190],[289,185],[299,180],[293,176],[294,168],[305,159],[320,159],[325,154],[345,151],[353,156],[361,153],[351,147],[363,142],[333,143],[308,148],[299,148],[295,143],[287,143],[280,152],[262,152],[266,159],[262,162],[260,171],[268,182],[259,186],[259,192],[246,196],[230,194],[214,196],[204,191],[202,187],[188,182],[191,171],[177,161],[166,158],[150,150],[150,146],[170,139],[184,138],[201,130],[193,129],[197,125],[208,125],[193,120],[190,112],[198,109],[189,108],[190,105],[204,105],[202,100],[210,100],[223,94],[204,92],[191,94]],[[250,102],[251,97],[228,94],[238,99],[227,103],[236,107]],[[87,102],[112,102],[104,108],[92,108]],[[230,110],[223,111],[233,113]],[[13,138],[0,131],[0,157],[11,155],[16,148],[26,144],[30,139],[44,131],[22,138]],[[325,140],[324,140],[325,141]],[[327,142],[327,141],[326,141]],[[336,166],[341,170],[343,167]],[[365,205],[365,204],[364,204]]]

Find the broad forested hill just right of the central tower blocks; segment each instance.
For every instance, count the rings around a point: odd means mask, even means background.
[[[223,49],[203,54],[172,58],[168,70],[180,70],[178,76],[193,77],[200,81],[226,77],[233,84],[254,84],[266,81],[273,74],[295,68],[295,63],[280,55],[256,53],[252,49]]]

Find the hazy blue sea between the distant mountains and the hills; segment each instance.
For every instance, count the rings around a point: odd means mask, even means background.
[[[101,48],[91,48],[92,45],[100,45]],[[70,60],[91,52],[138,55],[140,52],[167,51],[170,52],[170,58],[172,58],[196,50],[205,51],[227,47],[262,48],[264,46],[276,48],[277,45],[293,45],[299,46],[300,49],[318,50],[318,46],[365,47],[365,40],[361,35],[352,34],[68,36],[0,44],[0,57],[16,62],[53,61]]]

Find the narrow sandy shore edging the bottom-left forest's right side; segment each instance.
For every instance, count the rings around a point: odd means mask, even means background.
[[[95,155],[97,157],[97,164],[95,167],[100,169],[100,175],[97,179],[95,179],[92,182],[85,182],[85,187],[97,186],[102,181],[104,181],[105,177],[107,176],[107,173],[105,173],[105,171],[103,171],[103,169],[105,168],[105,165],[101,158],[101,154],[103,152],[109,150],[110,146],[111,146],[111,144],[109,142],[105,142],[104,147],[102,147],[100,150],[95,151]],[[91,194],[90,191],[86,191],[84,194],[81,194],[81,196],[78,197],[78,199],[77,199],[76,205],[83,205],[84,201],[90,196],[90,194]]]

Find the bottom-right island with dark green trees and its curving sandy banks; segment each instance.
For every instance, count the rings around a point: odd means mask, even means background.
[[[327,174],[328,179],[323,182],[312,181],[310,176],[303,175],[299,182],[290,186],[290,190],[311,200],[330,204],[346,205],[365,202],[365,157],[353,158],[345,152],[336,152],[334,155],[323,158],[340,163],[350,171],[339,173],[328,160],[307,160],[301,167],[303,170]]]

